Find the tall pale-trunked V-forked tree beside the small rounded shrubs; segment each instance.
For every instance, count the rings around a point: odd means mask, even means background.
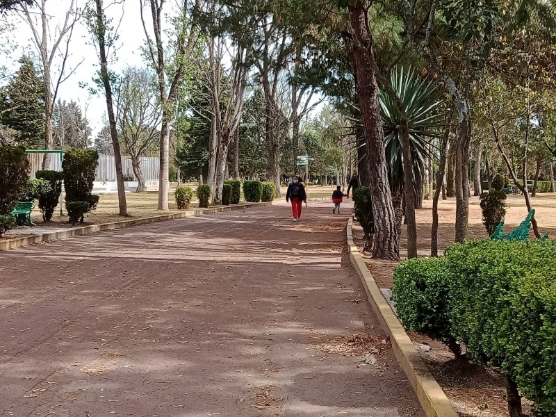
[[[186,73],[188,58],[193,52],[199,38],[199,22],[197,15],[201,8],[201,0],[179,1],[177,16],[172,19],[173,30],[170,31],[170,44],[174,48],[172,56],[167,56],[163,36],[163,6],[165,0],[149,0],[152,19],[152,33],[147,29],[145,10],[141,3],[141,22],[147,36],[147,54],[158,77],[158,100],[162,106],[161,140],[160,140],[160,172],[158,187],[158,210],[168,209],[168,170],[170,168],[170,128],[175,113],[179,87]],[[166,33],[168,34],[168,33]]]

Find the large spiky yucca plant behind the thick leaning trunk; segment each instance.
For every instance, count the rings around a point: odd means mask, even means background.
[[[404,104],[413,158],[413,176],[416,189],[423,187],[423,170],[428,156],[427,145],[443,134],[443,95],[429,77],[421,76],[414,69],[395,68],[391,73],[391,87]],[[400,113],[391,97],[379,92],[386,162],[389,180],[394,192],[402,193],[404,170],[402,160],[402,136]]]

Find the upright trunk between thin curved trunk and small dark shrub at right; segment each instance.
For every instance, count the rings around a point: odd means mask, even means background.
[[[471,129],[469,113],[464,113],[459,123],[459,133],[455,147],[455,192],[456,192],[456,224],[455,241],[464,243],[467,236],[469,215],[469,133]]]

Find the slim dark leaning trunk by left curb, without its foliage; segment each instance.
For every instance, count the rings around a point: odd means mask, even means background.
[[[120,208],[120,215],[128,215],[126,190],[124,186],[124,172],[122,170],[122,152],[120,151],[120,141],[117,139],[116,117],[114,115],[114,106],[112,103],[112,86],[110,84],[110,76],[108,75],[108,60],[106,59],[106,17],[102,6],[102,0],[95,0],[97,6],[97,28],[96,35],[99,42],[100,56],[100,73],[102,83],[104,84],[104,95],[106,96],[106,111],[108,113],[108,122],[110,124],[110,135],[112,137],[112,146],[114,149],[114,161],[116,168],[117,182],[117,200]]]

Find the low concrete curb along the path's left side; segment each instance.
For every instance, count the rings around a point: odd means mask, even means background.
[[[0,251],[15,249],[26,245],[33,245],[33,243],[48,242],[49,240],[71,238],[73,236],[85,236],[96,233],[97,231],[120,229],[122,227],[137,226],[138,224],[148,224],[154,222],[162,222],[163,220],[188,218],[195,215],[218,213],[220,211],[238,210],[241,208],[249,208],[252,206],[270,206],[272,202],[265,203],[245,203],[235,206],[223,206],[215,208],[197,208],[197,210],[183,211],[182,213],[170,213],[163,215],[154,215],[147,218],[138,218],[133,220],[120,220],[119,222],[91,224],[90,226],[76,227],[63,231],[54,231],[52,233],[45,233],[40,235],[25,236],[23,238],[15,238],[4,240],[0,242]]]

